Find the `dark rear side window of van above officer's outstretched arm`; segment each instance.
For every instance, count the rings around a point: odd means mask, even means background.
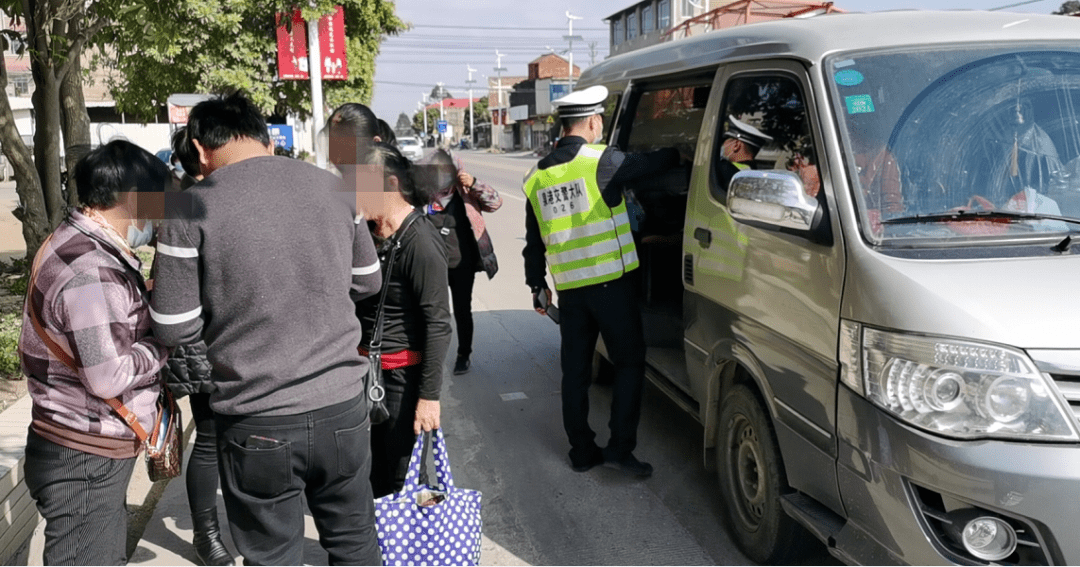
[[[626,151],[696,148],[711,90],[708,84],[645,90],[634,108]]]

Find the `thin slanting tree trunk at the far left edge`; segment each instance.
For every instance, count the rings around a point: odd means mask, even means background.
[[[41,195],[41,181],[37,170],[33,168],[33,157],[15,127],[15,116],[8,99],[6,89],[8,68],[0,57],[0,149],[3,150],[15,175],[15,192],[18,193],[19,207],[13,214],[23,222],[26,259],[29,261],[49,237],[51,227]]]

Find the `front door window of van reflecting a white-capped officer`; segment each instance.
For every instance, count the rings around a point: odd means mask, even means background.
[[[728,81],[724,92],[716,153],[713,159],[710,190],[713,198],[727,200],[728,181],[740,168],[787,170],[799,174],[807,194],[818,198],[821,179],[818,151],[811,136],[802,89],[794,77],[755,75]],[[733,120],[757,129],[771,141],[754,153],[753,146],[734,160],[725,159],[727,132],[735,129]],[[740,159],[741,158],[741,159]],[[732,163],[735,161],[739,165]]]

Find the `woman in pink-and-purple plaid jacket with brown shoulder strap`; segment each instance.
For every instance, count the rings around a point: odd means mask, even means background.
[[[126,140],[91,151],[73,173],[83,205],[39,248],[23,311],[26,485],[45,518],[45,565],[124,565],[127,483],[140,437],[158,430],[168,355],[150,336],[133,251],[153,235],[146,198],[161,195],[170,173]]]

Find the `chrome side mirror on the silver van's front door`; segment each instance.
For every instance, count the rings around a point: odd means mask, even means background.
[[[741,222],[784,231],[814,230],[823,216],[798,174],[784,170],[737,173],[728,186],[728,211]]]

